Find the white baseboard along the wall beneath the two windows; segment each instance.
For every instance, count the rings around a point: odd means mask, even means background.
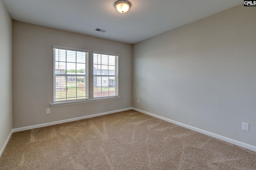
[[[39,124],[39,125],[31,125],[31,126],[26,126],[26,127],[20,127],[20,128],[12,129],[12,131],[13,132],[26,131],[26,130],[35,129],[35,128],[38,128],[38,127],[57,125],[57,124],[60,124],[60,123],[66,123],[66,122],[70,122],[70,121],[76,121],[76,120],[87,119],[87,118],[91,118],[91,117],[108,115],[108,114],[111,114],[111,113],[126,111],[126,110],[130,110],[130,109],[132,109],[132,107],[128,107],[128,108],[125,108],[125,109],[114,110],[114,111],[107,111],[107,112],[104,112],[104,113],[97,113],[97,114],[94,114],[94,115],[75,117],[75,118],[65,119],[65,120],[60,120],[60,121],[52,121],[52,122],[49,122],[49,123],[42,123],[42,124]]]

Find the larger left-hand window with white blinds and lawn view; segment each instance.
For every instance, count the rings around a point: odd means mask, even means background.
[[[53,46],[54,103],[88,99],[88,50]]]

